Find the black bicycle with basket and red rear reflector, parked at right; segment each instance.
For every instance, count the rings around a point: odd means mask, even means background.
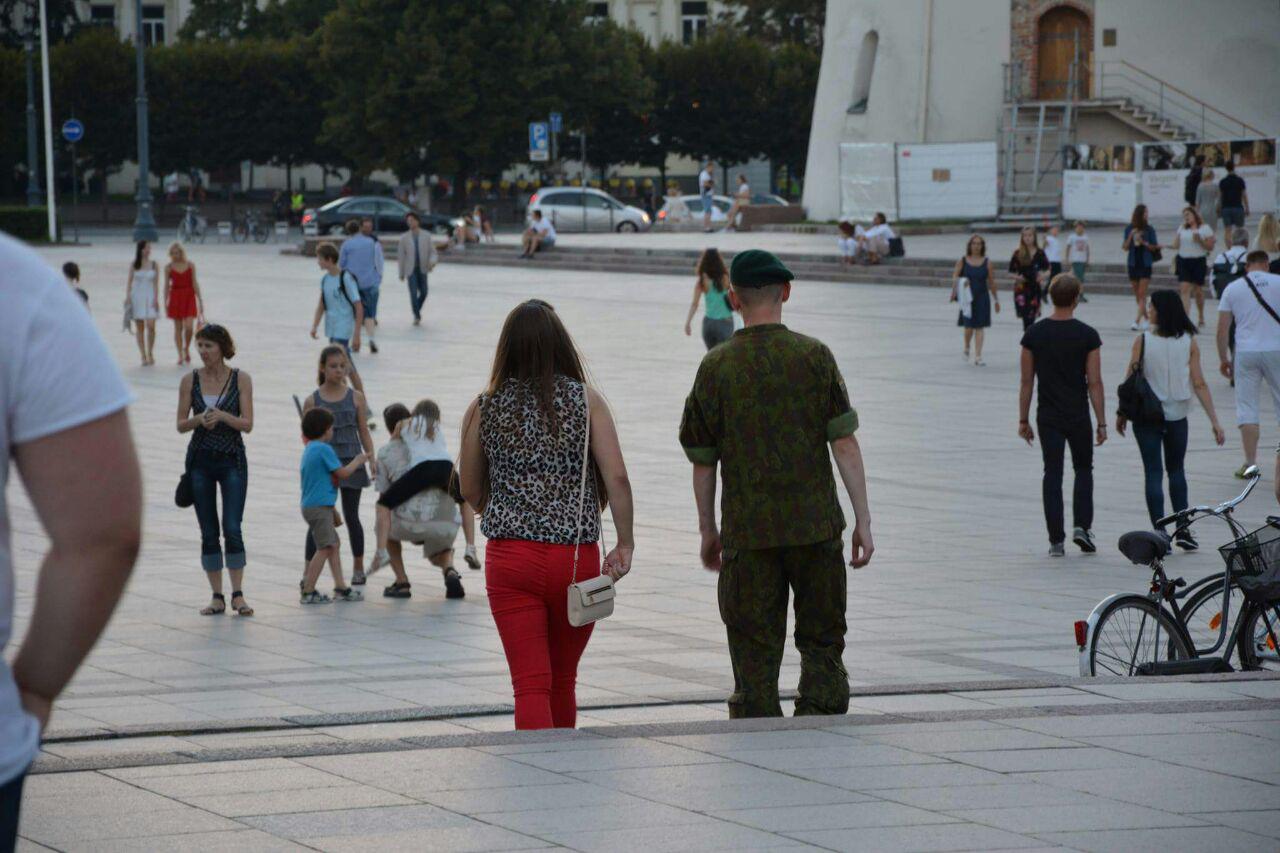
[[[1244,471],[1248,484],[1217,506],[1194,506],[1157,523],[1160,530],[1120,537],[1120,553],[1149,566],[1146,596],[1120,593],[1105,598],[1088,620],[1075,624],[1080,675],[1184,675],[1230,672],[1233,653],[1243,670],[1280,669],[1280,517],[1247,532],[1233,512],[1258,484],[1256,465]],[[1226,570],[1187,585],[1165,575],[1164,558],[1175,533],[1207,517],[1221,519],[1231,542],[1219,548]],[[1240,597],[1231,624],[1233,598]]]

